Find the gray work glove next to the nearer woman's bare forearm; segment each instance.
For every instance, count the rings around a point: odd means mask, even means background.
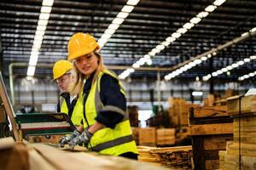
[[[83,133],[68,142],[69,148],[73,149],[77,144],[89,144],[92,135],[93,134],[88,131],[88,128],[85,128]]]

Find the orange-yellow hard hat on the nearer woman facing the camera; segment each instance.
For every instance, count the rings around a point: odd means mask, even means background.
[[[76,59],[85,54],[90,54],[100,48],[98,42],[90,34],[75,33],[67,44],[68,60]]]

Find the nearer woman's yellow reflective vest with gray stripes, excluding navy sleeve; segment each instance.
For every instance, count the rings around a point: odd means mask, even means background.
[[[84,128],[88,127],[88,124],[91,126],[96,122],[95,118],[99,111],[116,111],[125,117],[123,121],[119,122],[113,129],[105,127],[96,131],[96,133],[94,133],[90,139],[88,148],[101,154],[112,156],[119,156],[125,152],[133,152],[137,154],[137,146],[132,138],[128,112],[123,111],[113,105],[102,104],[102,100],[100,98],[100,82],[103,74],[108,74],[111,77],[117,78],[113,72],[104,70],[98,74],[96,82],[92,82],[90,92],[86,99],[85,107],[83,108],[85,109],[84,113],[86,116],[83,116]],[[125,95],[125,91],[122,88],[120,82],[119,86],[120,92]],[[83,94],[83,96],[84,95],[86,94]]]

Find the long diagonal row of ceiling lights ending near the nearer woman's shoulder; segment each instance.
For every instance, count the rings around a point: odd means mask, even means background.
[[[177,38],[181,37],[184,33],[189,31],[192,27],[198,24],[203,18],[207,17],[208,14],[212,13],[216,8],[222,5],[226,0],[216,0],[212,3],[212,5],[207,6],[204,11],[198,13],[194,18],[189,20],[189,22],[185,23],[181,28],[177,29],[176,32],[172,33],[170,37],[166,37],[166,41],[161,42],[155,48],[153,48],[148,54],[145,54],[143,58],[137,60],[131,68],[126,69],[120,75],[120,79],[125,79],[132,72],[134,72],[134,68],[139,68],[140,66],[147,63],[148,65],[152,64],[151,57],[154,57],[155,54],[160,53],[161,50],[168,47],[172,42],[176,41]]]

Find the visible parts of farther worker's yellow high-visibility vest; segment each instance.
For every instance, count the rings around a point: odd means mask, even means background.
[[[78,101],[77,101],[78,103]],[[61,107],[61,113],[66,113],[68,115],[68,107],[67,102],[64,97],[60,97],[60,107]],[[71,122],[73,122],[73,125],[79,126],[83,119],[83,113],[80,111],[77,111],[77,104],[73,107],[73,113],[71,116]]]

